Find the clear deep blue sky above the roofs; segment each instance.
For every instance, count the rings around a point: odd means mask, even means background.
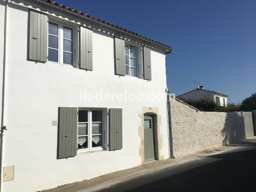
[[[254,0],[58,2],[172,46],[166,75],[176,95],[195,89],[194,81],[230,102],[256,92]]]

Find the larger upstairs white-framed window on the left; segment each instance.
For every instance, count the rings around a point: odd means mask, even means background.
[[[48,61],[73,65],[73,28],[59,22],[48,24]]]

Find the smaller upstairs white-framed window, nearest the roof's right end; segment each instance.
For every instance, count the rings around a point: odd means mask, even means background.
[[[138,48],[125,45],[125,74],[138,77]]]

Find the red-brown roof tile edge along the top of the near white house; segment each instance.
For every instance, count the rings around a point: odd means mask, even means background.
[[[159,42],[159,41],[156,41],[156,40],[154,40],[154,39],[150,39],[150,38],[148,38],[148,37],[142,36],[142,35],[140,35],[140,34],[138,34],[138,33],[132,32],[132,31],[130,31],[130,30],[128,30],[128,29],[125,29],[125,28],[122,28],[122,27],[120,27],[120,26],[114,25],[113,23],[109,23],[109,22],[107,22],[107,21],[100,20],[100,19],[98,19],[98,18],[92,17],[92,16],[90,16],[89,14],[83,13],[83,12],[81,12],[81,11],[77,11],[76,9],[72,9],[72,8],[70,8],[70,7],[66,7],[65,5],[59,4],[59,3],[56,2],[56,1],[54,1],[54,2],[52,2],[51,0],[40,0],[40,1],[43,1],[43,2],[46,2],[46,3],[52,4],[52,5],[55,5],[55,6],[57,6],[57,7],[62,8],[62,9],[66,9],[66,10],[68,10],[68,11],[70,11],[70,12],[77,13],[77,14],[79,14],[79,15],[81,15],[81,16],[84,16],[84,17],[89,18],[89,19],[91,19],[91,20],[98,21],[98,22],[100,22],[100,23],[103,23],[103,24],[108,25],[108,26],[110,26],[110,27],[113,27],[113,28],[115,28],[115,29],[121,30],[121,31],[126,32],[126,33],[128,33],[128,34],[132,34],[132,35],[138,36],[139,38],[142,38],[142,39],[151,41],[151,42],[153,42],[153,43],[159,44],[159,45],[161,45],[161,46],[163,46],[163,47],[169,49],[170,52],[172,51],[172,47],[169,46],[169,45],[166,45],[166,44],[161,43],[161,42]]]

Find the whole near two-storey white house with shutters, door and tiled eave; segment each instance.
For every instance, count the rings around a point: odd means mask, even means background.
[[[0,24],[1,191],[169,158],[171,47],[50,0],[0,0]]]

